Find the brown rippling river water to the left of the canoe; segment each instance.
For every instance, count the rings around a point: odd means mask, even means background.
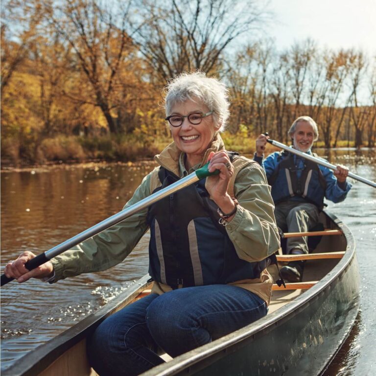
[[[120,211],[154,163],[56,166],[1,173],[1,269],[23,250],[40,254]],[[1,367],[71,327],[147,272],[148,235],[110,271],[55,285],[1,290]],[[35,320],[35,318],[38,320]]]

